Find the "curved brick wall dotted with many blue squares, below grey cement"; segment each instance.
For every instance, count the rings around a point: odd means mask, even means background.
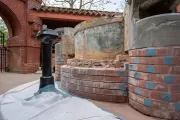
[[[180,47],[129,51],[129,103],[158,118],[180,118]]]

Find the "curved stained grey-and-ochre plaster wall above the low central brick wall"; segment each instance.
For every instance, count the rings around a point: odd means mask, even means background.
[[[75,27],[75,58],[113,59],[124,45],[123,17],[98,18]]]

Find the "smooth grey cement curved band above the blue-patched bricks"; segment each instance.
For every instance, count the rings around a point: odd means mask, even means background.
[[[180,45],[180,13],[161,14],[139,20],[129,49]]]

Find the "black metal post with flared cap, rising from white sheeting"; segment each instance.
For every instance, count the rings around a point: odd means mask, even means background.
[[[42,76],[40,78],[40,89],[47,85],[54,85],[54,77],[52,76],[52,44],[58,38],[55,30],[48,29],[43,25],[41,31],[37,33],[36,38],[41,40],[42,47]]]

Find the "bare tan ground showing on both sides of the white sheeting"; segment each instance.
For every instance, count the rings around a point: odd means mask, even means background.
[[[15,74],[15,73],[0,73],[0,94],[5,93],[9,89],[12,89],[18,85],[22,85],[27,82],[31,82],[39,79],[41,74]],[[128,104],[110,103],[90,100],[98,107],[117,114],[125,120],[157,120],[152,117],[145,116],[136,111]]]

